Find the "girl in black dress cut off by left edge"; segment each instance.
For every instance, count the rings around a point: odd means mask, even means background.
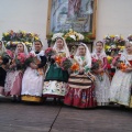
[[[4,44],[2,41],[0,41],[0,56],[2,56],[3,53],[6,53],[7,50],[4,47]],[[4,81],[6,81],[6,75],[7,72],[4,69],[4,65],[9,62],[9,59],[0,59],[0,95],[3,95],[3,87],[4,87]]]

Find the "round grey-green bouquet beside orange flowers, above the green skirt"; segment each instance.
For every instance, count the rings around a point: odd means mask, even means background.
[[[72,67],[72,61],[67,57],[63,57],[61,62],[61,68],[63,70],[68,70]]]

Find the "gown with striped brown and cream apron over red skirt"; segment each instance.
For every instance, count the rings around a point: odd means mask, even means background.
[[[85,73],[74,73],[68,79],[67,94],[64,103],[77,108],[94,108],[97,106],[95,97],[95,85],[91,76],[88,75],[88,66],[84,56],[75,56],[79,66],[85,67]]]

